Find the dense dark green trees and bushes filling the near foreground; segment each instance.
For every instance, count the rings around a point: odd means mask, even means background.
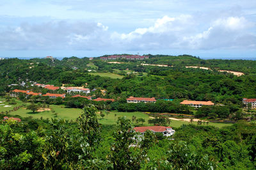
[[[0,169],[255,169],[256,124],[182,125],[174,140],[147,132],[136,140],[132,122],[100,125],[92,105],[76,121],[3,120]],[[7,115],[8,116],[8,115]]]

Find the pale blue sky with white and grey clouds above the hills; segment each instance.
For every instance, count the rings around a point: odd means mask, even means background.
[[[0,0],[0,57],[256,59],[255,0]]]

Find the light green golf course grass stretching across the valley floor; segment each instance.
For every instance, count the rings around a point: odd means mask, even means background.
[[[10,111],[13,109],[13,107],[22,105],[22,102],[20,100],[15,100],[17,102],[16,105],[12,105],[12,107],[3,107],[4,105],[10,105],[8,102],[4,102],[4,98],[0,98],[0,112],[5,112],[5,111]],[[29,105],[27,103],[26,105]],[[30,110],[26,109],[25,107],[21,107],[18,111],[11,112],[12,115],[19,115],[23,118],[32,116],[33,118],[63,118],[65,120],[76,120],[78,116],[83,112],[82,109],[75,109],[75,108],[66,108],[65,105],[50,105],[49,109],[51,111],[44,111],[44,112],[31,112]],[[55,112],[52,112],[55,111]],[[58,116],[55,117],[55,113],[58,113]],[[97,113],[99,122],[104,124],[104,125],[115,125],[118,117],[126,116],[129,120],[132,120],[132,116],[136,116],[136,118],[143,118],[145,119],[145,123],[143,125],[145,126],[152,126],[148,124],[148,120],[152,119],[150,116],[143,112],[109,112],[109,114],[104,113],[105,116],[102,119],[100,117],[99,112]],[[135,122],[134,122],[135,123]],[[189,124],[188,122],[185,121],[177,121],[177,120],[172,120],[170,123],[170,127],[180,127],[183,124]],[[196,125],[196,122],[193,122],[193,124]],[[206,125],[206,124],[205,124]],[[214,127],[225,127],[225,126],[230,126],[232,125],[231,123],[209,123],[209,125],[212,125]]]

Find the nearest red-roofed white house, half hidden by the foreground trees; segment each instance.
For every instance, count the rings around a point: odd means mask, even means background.
[[[134,127],[135,132],[140,132],[141,135],[144,135],[147,130],[155,133],[162,133],[164,136],[171,136],[175,133],[171,127],[162,127],[162,126],[154,126],[154,127]]]

